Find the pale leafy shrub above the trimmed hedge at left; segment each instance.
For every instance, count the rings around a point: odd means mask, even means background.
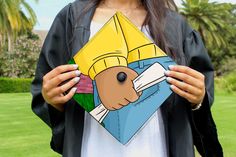
[[[40,49],[40,40],[27,35],[18,37],[13,51],[0,54],[0,76],[32,78]]]

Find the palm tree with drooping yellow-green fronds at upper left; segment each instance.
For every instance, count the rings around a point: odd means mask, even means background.
[[[36,19],[33,9],[25,0],[0,0],[0,40],[7,36],[8,51],[12,49],[12,39],[19,32],[32,29]]]

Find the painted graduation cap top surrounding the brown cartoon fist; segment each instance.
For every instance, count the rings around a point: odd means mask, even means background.
[[[92,80],[107,68],[132,68],[136,63],[139,66],[146,61],[149,63],[145,68],[133,69],[139,74],[133,81],[134,88],[143,91],[142,95],[136,102],[119,110],[108,111],[101,104],[95,81],[92,97],[81,92],[73,97],[122,144],[130,141],[172,93],[164,71],[175,63],[120,12],[104,24],[73,60],[81,73]]]

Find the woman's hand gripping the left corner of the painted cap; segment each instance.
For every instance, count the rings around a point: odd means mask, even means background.
[[[48,72],[43,77],[42,95],[44,100],[59,111],[64,111],[64,104],[69,101],[76,92],[81,72],[78,66],[61,65]],[[64,94],[70,89],[67,94]]]

